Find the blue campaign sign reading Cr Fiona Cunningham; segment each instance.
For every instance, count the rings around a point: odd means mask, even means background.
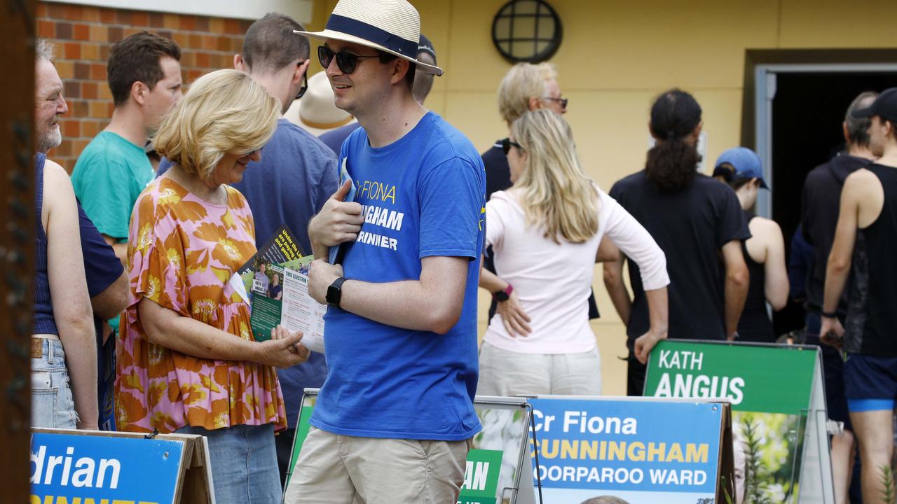
[[[539,476],[546,502],[613,495],[630,504],[694,504],[716,496],[721,404],[548,397],[530,404],[534,483]]]

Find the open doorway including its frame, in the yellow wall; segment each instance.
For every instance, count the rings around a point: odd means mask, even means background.
[[[862,91],[897,86],[897,59],[878,50],[833,51],[836,56],[826,61],[828,55],[813,51],[801,62],[799,51],[782,52],[785,61],[777,61],[776,51],[763,51],[766,61],[745,67],[753,77],[745,82],[745,95],[753,94],[753,110],[745,107],[745,115],[753,114],[743,127],[753,126],[753,135],[743,131],[743,141],[753,140],[772,187],[758,197],[757,213],[779,223],[790,258],[806,174],[844,148],[841,123],[851,100]],[[803,317],[800,306],[789,304],[773,317],[776,334],[804,326]]]

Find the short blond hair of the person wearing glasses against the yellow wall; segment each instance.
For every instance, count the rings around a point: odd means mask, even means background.
[[[529,99],[548,94],[548,81],[557,79],[551,63],[518,63],[510,68],[499,84],[499,113],[511,124],[529,111]]]

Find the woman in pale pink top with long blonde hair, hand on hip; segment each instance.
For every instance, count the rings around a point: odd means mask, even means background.
[[[481,395],[598,395],[601,366],[588,296],[606,235],[641,266],[651,324],[647,356],[666,337],[666,260],[649,233],[598,189],[579,164],[570,126],[527,112],[502,141],[513,186],[486,204],[496,274],[480,287],[499,301],[480,350]]]

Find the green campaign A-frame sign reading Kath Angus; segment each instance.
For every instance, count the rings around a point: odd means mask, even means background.
[[[736,465],[756,466],[752,493],[783,504],[827,503],[816,499],[831,491],[817,362],[811,346],[663,341],[651,352],[645,395],[727,398]]]

